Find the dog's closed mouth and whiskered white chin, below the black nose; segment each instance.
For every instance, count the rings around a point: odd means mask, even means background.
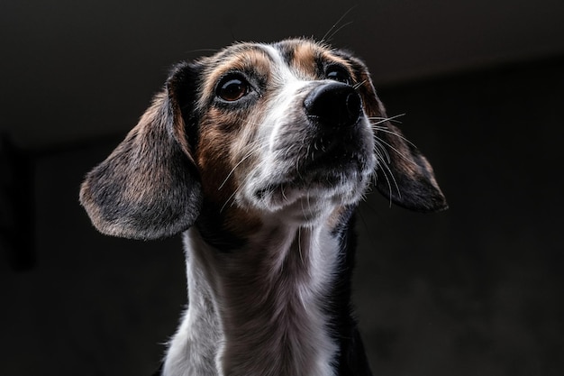
[[[251,177],[250,201],[270,211],[312,202],[352,204],[368,186],[375,167],[372,134],[364,119],[345,133],[323,133],[299,147],[279,151],[272,169]],[[296,143],[297,144],[297,143]],[[300,209],[301,210],[301,209]]]

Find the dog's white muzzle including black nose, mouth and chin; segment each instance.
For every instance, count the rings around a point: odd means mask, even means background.
[[[307,93],[293,96],[289,111],[269,149],[267,162],[257,166],[245,183],[254,206],[293,207],[307,197],[314,210],[320,202],[356,202],[374,170],[373,133],[354,87],[341,82],[315,82]],[[292,106],[290,106],[292,107]],[[296,206],[304,216],[302,206]]]

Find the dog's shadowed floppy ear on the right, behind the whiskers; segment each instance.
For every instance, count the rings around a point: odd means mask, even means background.
[[[376,95],[364,63],[355,58],[350,58],[350,61],[357,80],[363,83],[359,92],[364,110],[370,123],[374,124],[378,158],[376,187],[393,203],[407,209],[425,213],[446,209],[448,205],[435,180],[431,164],[387,120],[384,105]]]

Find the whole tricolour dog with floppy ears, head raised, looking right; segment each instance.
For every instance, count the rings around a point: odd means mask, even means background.
[[[80,202],[96,228],[183,234],[188,307],[164,376],[370,375],[353,315],[354,209],[376,187],[447,207],[365,64],[323,42],[239,42],[171,69]]]

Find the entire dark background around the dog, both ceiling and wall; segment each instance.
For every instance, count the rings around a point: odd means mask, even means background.
[[[2,2],[0,375],[154,370],[186,303],[180,239],[97,234],[81,179],[172,63],[326,32],[405,114],[450,203],[420,215],[372,193],[359,207],[375,374],[564,374],[564,3],[355,4]]]

